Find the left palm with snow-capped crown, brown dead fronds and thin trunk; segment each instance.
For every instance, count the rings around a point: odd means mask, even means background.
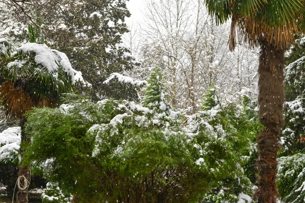
[[[77,81],[85,82],[72,69],[65,53],[45,44],[27,43],[13,52],[14,47],[0,39],[0,47],[0,104],[8,118],[20,121],[22,143],[28,141],[24,134],[24,113],[33,107],[55,107],[60,94],[72,91]],[[22,175],[29,180],[28,166],[20,162],[19,176]],[[27,202],[27,193],[19,192],[17,198]]]

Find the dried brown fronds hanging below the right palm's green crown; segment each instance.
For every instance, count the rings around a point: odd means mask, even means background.
[[[294,34],[305,28],[302,28],[301,23],[304,13],[304,1],[300,0],[268,0],[267,4],[250,16],[234,10],[229,48],[234,50],[238,38],[252,47],[267,41],[277,49],[286,49],[294,43]]]

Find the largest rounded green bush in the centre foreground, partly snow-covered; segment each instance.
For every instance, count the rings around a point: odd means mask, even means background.
[[[36,109],[28,117],[33,141],[24,160],[35,160],[33,168],[79,202],[200,199],[208,174],[195,164],[179,125],[162,124],[163,118],[128,101]]]

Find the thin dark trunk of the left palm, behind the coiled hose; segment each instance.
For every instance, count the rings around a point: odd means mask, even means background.
[[[21,126],[21,143],[22,144],[24,141],[27,141],[27,138],[24,134],[24,120],[20,121],[20,126]],[[20,147],[20,155],[22,155],[23,149]],[[21,162],[19,163],[19,176],[24,176],[26,180],[29,180],[29,168],[27,166],[22,167]],[[25,190],[18,190],[17,192],[17,203],[28,203],[27,199],[27,191],[28,187]]]

